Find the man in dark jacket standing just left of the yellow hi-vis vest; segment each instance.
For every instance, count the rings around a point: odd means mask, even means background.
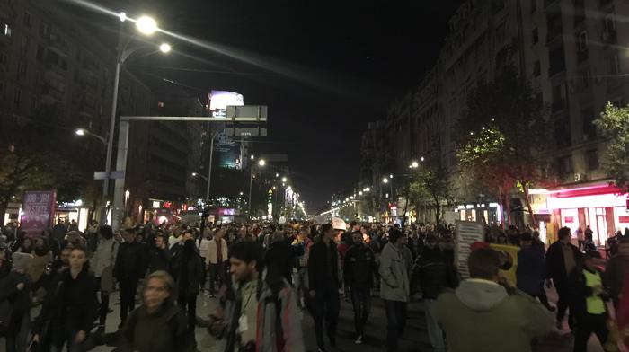
[[[557,328],[562,329],[563,317],[566,309],[571,306],[572,298],[568,287],[568,277],[574,268],[580,267],[582,263],[582,255],[579,249],[572,245],[571,231],[568,227],[559,229],[559,240],[551,244],[546,251],[546,278],[553,279],[546,281],[546,286],[552,286],[557,289],[559,301],[557,302]],[[570,326],[573,326],[573,319],[569,320]]]

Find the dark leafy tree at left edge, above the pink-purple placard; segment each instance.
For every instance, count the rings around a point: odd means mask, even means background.
[[[58,110],[43,106],[30,118],[11,120],[0,126],[0,214],[24,189],[57,189],[60,202],[98,197],[92,175],[93,162],[101,158],[71,138],[72,128],[63,128]]]

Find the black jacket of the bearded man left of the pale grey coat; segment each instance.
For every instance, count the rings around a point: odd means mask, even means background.
[[[371,249],[363,244],[354,244],[345,253],[343,261],[345,285],[356,288],[374,286],[374,273],[377,272],[376,257]]]

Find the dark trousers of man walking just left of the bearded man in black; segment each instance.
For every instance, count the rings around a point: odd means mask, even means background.
[[[327,293],[317,292],[312,299],[311,306],[317,347],[324,347],[323,320],[325,320],[325,324],[327,325],[330,345],[336,347],[336,325],[339,323],[339,312],[341,309],[339,292],[334,290]]]

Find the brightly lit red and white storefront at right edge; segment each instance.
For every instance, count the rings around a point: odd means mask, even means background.
[[[578,228],[585,230],[589,226],[598,245],[604,245],[616,231],[624,232],[629,227],[627,194],[607,183],[531,191],[538,199],[536,213],[547,214],[549,222],[557,228],[569,227],[573,235]]]

